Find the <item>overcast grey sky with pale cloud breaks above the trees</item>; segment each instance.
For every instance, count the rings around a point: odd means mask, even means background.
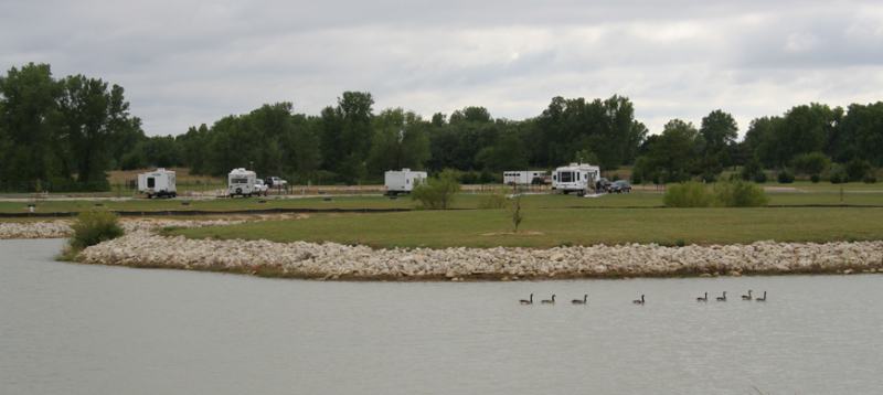
[[[262,104],[318,115],[344,90],[430,118],[552,97],[629,97],[651,134],[714,109],[751,119],[883,99],[883,1],[0,2],[0,66],[126,89],[145,132]]]

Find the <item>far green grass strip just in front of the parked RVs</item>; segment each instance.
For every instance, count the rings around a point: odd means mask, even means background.
[[[827,192],[768,192],[770,205],[802,205],[802,204],[841,204],[839,191]],[[408,196],[398,196],[391,200],[387,196],[327,196],[307,199],[217,199],[217,200],[164,200],[164,199],[137,199],[137,200],[79,200],[79,201],[46,201],[46,202],[0,202],[0,212],[24,213],[28,204],[35,204],[35,212],[70,212],[95,207],[104,204],[106,209],[121,211],[167,211],[167,210],[201,210],[201,211],[233,211],[233,210],[263,210],[263,209],[409,209],[414,205]],[[260,204],[258,201],[267,203]],[[854,205],[883,205],[883,192],[847,192],[843,194],[844,203]],[[190,206],[182,206],[188,202]],[[662,193],[634,192],[608,194],[599,198],[577,198],[576,195],[526,195],[523,199],[528,209],[560,209],[560,207],[627,207],[627,206],[661,206]],[[479,195],[461,193],[458,195],[456,207],[476,209]]]

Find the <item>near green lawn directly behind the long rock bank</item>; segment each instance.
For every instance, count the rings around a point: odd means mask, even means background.
[[[562,244],[735,244],[880,239],[883,209],[638,209],[528,210],[522,232],[504,210],[312,215],[308,218],[180,229],[188,237],[338,242],[374,247],[547,248]]]

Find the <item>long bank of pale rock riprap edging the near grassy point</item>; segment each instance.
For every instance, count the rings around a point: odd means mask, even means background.
[[[447,248],[380,249],[336,243],[188,239],[135,232],[83,250],[83,261],[105,265],[221,267],[254,270],[274,267],[288,274],[327,276],[470,275],[624,276],[743,270],[880,268],[883,242],[663,247],[628,244],[552,249]]]

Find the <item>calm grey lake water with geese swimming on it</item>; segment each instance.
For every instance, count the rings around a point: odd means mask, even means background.
[[[61,245],[0,241],[0,394],[883,391],[883,275],[321,282],[53,261]]]

